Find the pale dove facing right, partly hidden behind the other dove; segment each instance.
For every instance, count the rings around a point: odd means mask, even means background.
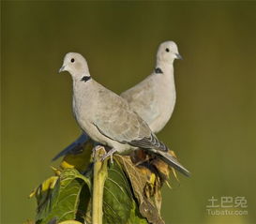
[[[142,82],[120,95],[128,100],[131,109],[143,118],[154,133],[158,133],[165,127],[173,113],[176,99],[174,59],[182,59],[177,45],[173,41],[161,43],[153,72]],[[82,134],[75,142],[53,157],[53,160],[68,153],[75,153],[87,140],[88,136]]]

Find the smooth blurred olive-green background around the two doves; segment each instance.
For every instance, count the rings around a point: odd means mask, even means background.
[[[80,133],[66,52],[116,93],[149,75],[172,39],[177,103],[158,134],[192,172],[164,187],[169,223],[255,223],[256,2],[1,2],[1,223],[35,216],[30,191]],[[208,216],[214,196],[244,196],[248,216]]]

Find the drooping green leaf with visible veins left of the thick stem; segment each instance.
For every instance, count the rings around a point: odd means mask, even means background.
[[[91,187],[89,179],[75,169],[61,172],[53,189],[49,188],[37,194],[37,224],[74,219],[80,202],[80,192],[85,184]]]

